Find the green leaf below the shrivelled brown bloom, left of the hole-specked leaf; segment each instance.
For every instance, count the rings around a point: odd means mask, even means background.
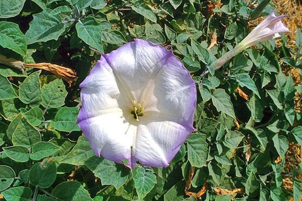
[[[30,74],[19,86],[19,99],[31,106],[39,106],[42,102],[42,92],[39,75],[41,70]]]

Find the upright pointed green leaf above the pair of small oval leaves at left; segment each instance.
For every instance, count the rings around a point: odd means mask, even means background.
[[[21,113],[9,125],[7,135],[12,138],[13,145],[29,147],[41,141],[40,132]]]

